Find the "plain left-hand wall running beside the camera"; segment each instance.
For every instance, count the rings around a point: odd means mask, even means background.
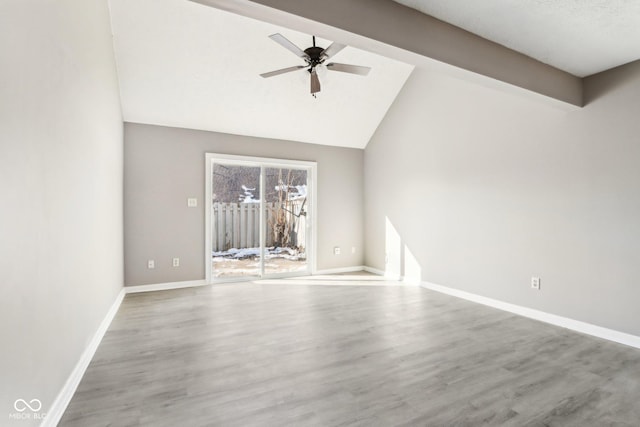
[[[0,2],[0,425],[48,412],[123,284],[107,4]]]

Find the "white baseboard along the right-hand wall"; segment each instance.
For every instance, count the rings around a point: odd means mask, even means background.
[[[605,340],[617,342],[620,344],[625,344],[630,347],[640,348],[640,337],[636,335],[627,334],[625,332],[616,331],[614,329],[603,328],[602,326],[592,325],[580,320],[574,320],[568,317],[546,313],[544,311],[511,304],[493,298],[483,297],[481,295],[472,294],[470,292],[461,291],[459,289],[436,285],[435,283],[422,282],[420,285],[423,288],[430,289],[432,291],[477,302],[479,304],[487,305],[499,310],[508,311],[510,313],[518,314],[530,319],[539,320],[541,322],[550,323],[552,325],[560,326],[572,331],[592,335],[594,337],[603,338]]]

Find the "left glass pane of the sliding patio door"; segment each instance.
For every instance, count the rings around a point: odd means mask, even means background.
[[[213,278],[261,276],[260,167],[214,162],[211,189]]]

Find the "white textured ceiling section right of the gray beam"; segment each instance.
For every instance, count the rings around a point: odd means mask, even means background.
[[[640,0],[395,0],[578,77],[640,59]]]

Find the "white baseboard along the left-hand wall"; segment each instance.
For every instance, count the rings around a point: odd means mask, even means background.
[[[93,338],[89,342],[89,345],[85,348],[80,356],[80,360],[76,363],[76,366],[71,371],[71,375],[67,378],[67,381],[64,383],[62,390],[56,396],[56,399],[53,401],[53,404],[49,408],[47,412],[46,418],[40,424],[40,427],[55,427],[58,425],[62,416],[64,415],[64,411],[66,411],[67,406],[69,406],[69,402],[71,402],[71,398],[73,394],[76,392],[78,388],[78,384],[80,384],[80,380],[84,376],[89,363],[91,363],[91,359],[93,359],[100,342],[102,341],[102,337],[109,329],[109,325],[111,325],[111,321],[115,317],[118,309],[120,308],[120,304],[124,298],[125,291],[121,289],[116,297],[116,300],[111,304],[109,311],[102,319],[100,326],[96,330],[95,334],[93,334]]]

